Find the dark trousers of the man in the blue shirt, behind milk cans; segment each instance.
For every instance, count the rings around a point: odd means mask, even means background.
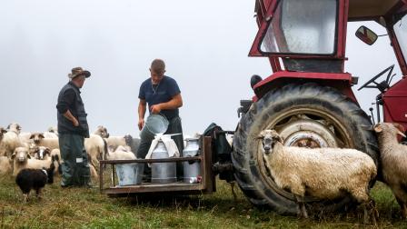
[[[181,118],[180,117],[174,117],[171,120],[168,120],[168,129],[165,132],[165,134],[178,134],[174,135],[171,138],[174,140],[176,146],[178,147],[178,151],[180,154],[183,154],[184,150],[184,136],[183,136],[183,126],[181,124]],[[150,149],[152,141],[150,139],[140,139],[140,146],[138,147],[137,150],[137,158],[138,159],[144,159],[145,156],[148,154],[148,150]],[[176,166],[177,170],[177,176],[182,177],[182,174],[180,173],[182,171],[182,166],[181,164],[177,164]],[[147,164],[144,164],[144,174],[146,176],[151,176],[151,168],[147,166]]]

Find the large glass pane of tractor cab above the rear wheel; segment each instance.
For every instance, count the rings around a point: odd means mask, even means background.
[[[333,55],[337,0],[281,0],[263,36],[263,53]]]

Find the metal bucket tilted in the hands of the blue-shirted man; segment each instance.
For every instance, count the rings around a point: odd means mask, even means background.
[[[163,115],[149,115],[140,132],[144,141],[153,141],[155,134],[164,134],[168,129],[168,120]]]

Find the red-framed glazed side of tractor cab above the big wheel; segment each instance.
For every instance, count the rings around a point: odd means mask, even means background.
[[[345,0],[274,0],[259,20],[251,56],[268,56],[273,72],[342,73]],[[259,15],[259,12],[257,12]],[[282,62],[280,62],[280,60]]]

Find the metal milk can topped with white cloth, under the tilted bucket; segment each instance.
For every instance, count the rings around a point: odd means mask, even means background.
[[[155,146],[151,159],[168,158],[168,152],[163,141],[159,140]],[[151,183],[176,182],[176,163],[152,163]]]

